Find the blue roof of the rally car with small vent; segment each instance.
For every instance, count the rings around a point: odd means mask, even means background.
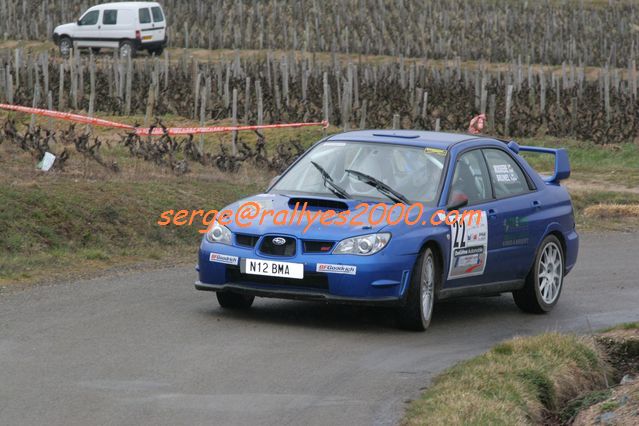
[[[328,137],[329,141],[378,142],[448,149],[451,145],[473,139],[486,139],[460,133],[424,130],[354,130]]]

